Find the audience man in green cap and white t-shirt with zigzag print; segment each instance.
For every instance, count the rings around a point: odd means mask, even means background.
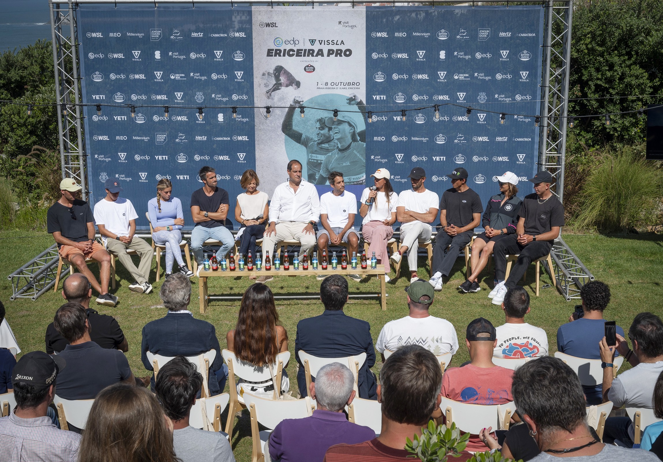
[[[458,337],[452,323],[431,316],[428,312],[435,296],[433,286],[424,279],[417,279],[405,291],[410,313],[385,324],[375,343],[375,349],[381,352],[383,362],[385,350],[395,351],[403,345],[421,345],[436,356],[455,354]]]

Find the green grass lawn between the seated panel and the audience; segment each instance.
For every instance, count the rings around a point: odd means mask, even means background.
[[[564,239],[571,246],[573,252],[595,275],[596,279],[605,281],[611,287],[612,301],[606,311],[607,319],[617,321],[625,330],[631,325],[634,315],[641,311],[652,311],[658,315],[663,314],[663,236],[655,234],[639,234],[636,236],[607,237],[599,235],[575,236],[565,235]],[[19,345],[23,352],[44,350],[44,333],[48,323],[52,322],[53,315],[64,300],[60,291],[49,292],[36,301],[19,299],[9,301],[11,283],[7,275],[25,264],[42,250],[52,244],[52,238],[46,233],[38,232],[0,232],[0,299],[7,308],[9,321]],[[424,264],[424,258],[419,259]],[[93,271],[97,268],[93,266]],[[420,275],[427,275],[426,269],[420,268]],[[493,324],[504,323],[504,315],[499,307],[492,305],[487,298],[487,283],[492,285],[492,275],[485,271],[485,281],[481,282],[482,290],[479,293],[459,294],[455,287],[464,280],[464,264],[457,260],[453,268],[451,280],[444,290],[436,294],[436,300],[431,308],[431,314],[444,317],[455,326],[461,348],[453,357],[452,366],[457,366],[469,359],[463,339],[467,323],[476,317],[483,316]],[[154,266],[152,267],[154,271]],[[407,271],[404,271],[406,273]],[[158,297],[159,283],[154,283],[154,293],[149,295],[137,294],[129,291],[127,286],[131,281],[127,278],[129,273],[118,266],[120,277],[115,295],[120,303],[115,308],[94,305],[99,313],[113,315],[122,327],[129,340],[129,364],[134,374],[146,376],[141,362],[141,329],[143,326],[159,317],[164,316],[166,309],[161,305]],[[392,319],[398,319],[408,313],[404,287],[408,285],[408,277],[400,277],[397,281],[387,284],[387,311],[382,311],[377,299],[351,299],[345,307],[347,315],[365,319],[371,323],[373,341],[377,340],[380,329]],[[154,280],[152,273],[151,281]],[[351,293],[378,292],[379,283],[376,279],[355,283],[348,279]],[[209,321],[216,327],[217,337],[221,348],[226,345],[225,334],[233,329],[237,321],[239,301],[211,301],[210,307],[204,315],[198,311],[198,285],[196,278],[192,278],[193,294],[191,309],[194,316]],[[550,283],[548,275],[542,275],[542,284]],[[210,278],[210,293],[235,294],[242,293],[250,282],[245,278]],[[542,327],[548,333],[550,353],[556,351],[557,328],[568,321],[576,301],[567,302],[555,289],[542,289],[540,297],[534,296],[534,266],[530,267],[524,283],[532,296],[532,312],[526,320],[532,325]],[[320,290],[320,281],[315,277],[277,277],[269,283],[275,294],[317,292]],[[60,285],[61,287],[61,285]],[[294,354],[294,338],[297,322],[306,317],[322,313],[324,309],[319,300],[286,300],[277,299],[276,307],[280,322],[288,331],[290,343],[288,347]],[[373,367],[379,374],[381,364]],[[290,390],[296,394],[295,361],[290,360],[287,367],[290,375]],[[226,389],[227,391],[227,389]],[[225,415],[222,416],[225,422]],[[251,432],[249,418],[246,411],[235,424],[232,438],[233,449],[237,461],[251,459]]]

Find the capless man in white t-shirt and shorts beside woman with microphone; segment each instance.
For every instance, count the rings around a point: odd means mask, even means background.
[[[329,255],[328,244],[337,246],[341,242],[347,244],[347,261],[350,261],[352,252],[359,248],[359,236],[355,231],[355,215],[357,214],[357,196],[345,191],[343,173],[333,171],[328,177],[331,191],[320,196],[320,224],[322,230],[318,231],[318,250],[326,250]],[[324,279],[318,275],[318,280]],[[350,278],[359,282],[361,276],[351,274]]]

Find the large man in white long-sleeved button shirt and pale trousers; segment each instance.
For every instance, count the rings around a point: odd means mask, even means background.
[[[298,240],[302,244],[300,258],[310,256],[316,245],[313,225],[320,218],[320,198],[316,187],[302,180],[300,161],[288,162],[288,181],[274,189],[269,204],[269,226],[263,237],[263,256],[274,251],[282,240]],[[265,257],[263,257],[265,258]]]

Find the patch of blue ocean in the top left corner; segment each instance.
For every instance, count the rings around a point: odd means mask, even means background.
[[[0,52],[50,40],[48,0],[1,0]]]

